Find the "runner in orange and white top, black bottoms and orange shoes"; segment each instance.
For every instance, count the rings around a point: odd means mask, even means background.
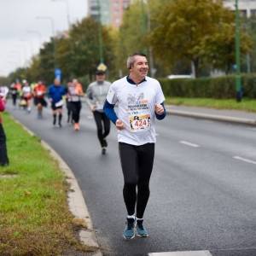
[[[81,97],[84,96],[82,86],[79,85],[77,79],[73,79],[71,86],[68,87],[67,100],[69,101],[69,107],[72,112],[72,119],[74,121],[74,130],[79,131],[79,119],[80,111],[82,108]]]

